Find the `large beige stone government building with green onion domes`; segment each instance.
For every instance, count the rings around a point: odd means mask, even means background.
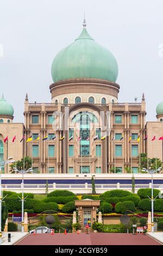
[[[14,123],[14,109],[2,96],[1,160],[30,156],[33,175],[58,177],[140,173],[141,153],[162,161],[163,102],[152,122],[143,93],[141,102],[118,102],[117,61],[90,36],[85,20],[78,38],[54,57],[51,72],[51,100],[30,102],[28,92],[24,124]],[[9,164],[2,172],[10,173]]]

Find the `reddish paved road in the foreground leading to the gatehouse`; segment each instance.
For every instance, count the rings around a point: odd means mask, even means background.
[[[17,245],[161,245],[148,235],[122,233],[29,234]]]

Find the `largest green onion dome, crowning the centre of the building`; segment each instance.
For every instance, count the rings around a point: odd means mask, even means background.
[[[118,65],[108,49],[97,44],[85,24],[78,38],[55,56],[52,63],[54,82],[70,78],[100,78],[116,82]]]

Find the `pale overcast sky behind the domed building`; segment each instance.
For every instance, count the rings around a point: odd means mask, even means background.
[[[0,94],[14,107],[14,120],[24,120],[27,92],[29,102],[51,102],[53,58],[82,31],[84,11],[87,31],[117,59],[118,102],[135,96],[139,102],[144,92],[146,120],[156,120],[163,100],[162,0],[0,0]]]

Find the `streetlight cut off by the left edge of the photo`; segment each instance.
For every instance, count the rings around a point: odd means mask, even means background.
[[[4,167],[5,164],[14,163],[15,160],[11,160],[13,157],[9,157],[8,160],[0,160],[0,245],[2,243],[2,203],[4,202],[4,198],[2,197],[2,166]]]

